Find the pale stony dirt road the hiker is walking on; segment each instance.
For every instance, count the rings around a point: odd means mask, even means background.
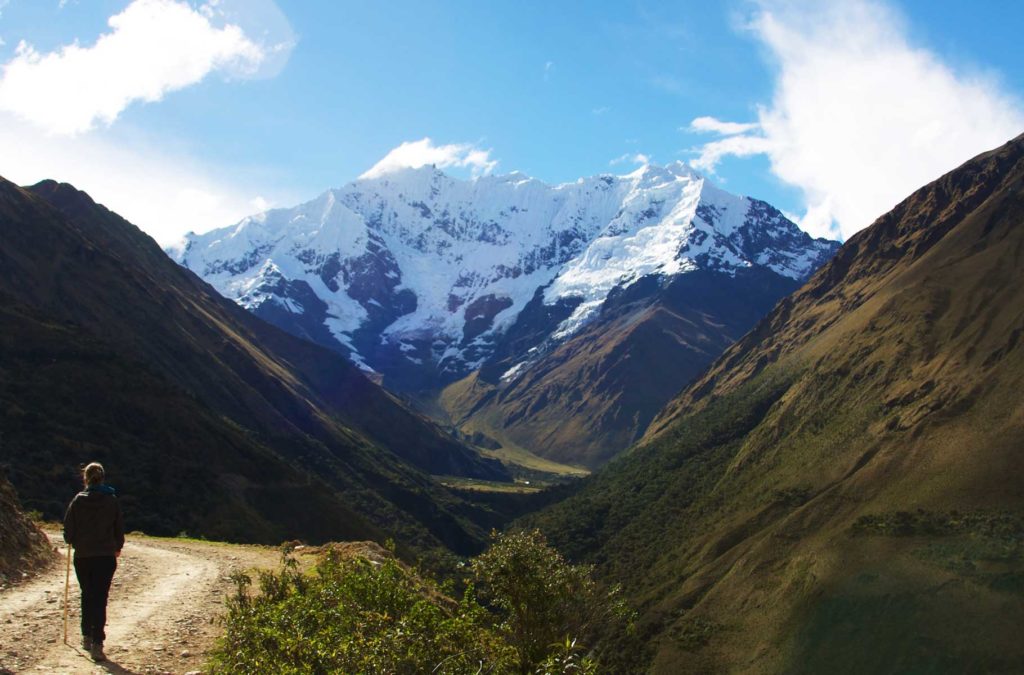
[[[62,552],[62,543],[51,538]],[[0,675],[199,671],[220,632],[215,618],[231,591],[228,576],[273,567],[279,559],[270,548],[130,536],[111,589],[103,664],[92,663],[81,648],[74,569],[63,643],[61,562],[0,591]]]

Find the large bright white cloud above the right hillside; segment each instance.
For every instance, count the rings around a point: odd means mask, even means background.
[[[697,118],[728,133],[693,162],[765,154],[798,186],[813,235],[849,238],[908,194],[1024,130],[1024,109],[989,77],[910,43],[903,18],[876,0],[766,1],[749,29],[776,61],[756,129]],[[718,128],[715,128],[715,127]]]

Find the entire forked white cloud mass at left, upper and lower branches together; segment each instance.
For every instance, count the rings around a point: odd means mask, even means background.
[[[188,230],[298,201],[276,175],[258,168],[211,165],[168,150],[181,147],[181,139],[97,124],[112,122],[132,101],[158,100],[213,72],[271,77],[294,44],[272,0],[134,0],[109,23],[111,31],[91,47],[75,43],[38,54],[26,45],[3,67],[3,177],[23,185],[70,182],[164,246]]]

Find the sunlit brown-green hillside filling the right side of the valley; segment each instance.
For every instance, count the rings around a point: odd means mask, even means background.
[[[1019,672],[1024,138],[852,238],[536,521],[656,672]]]

